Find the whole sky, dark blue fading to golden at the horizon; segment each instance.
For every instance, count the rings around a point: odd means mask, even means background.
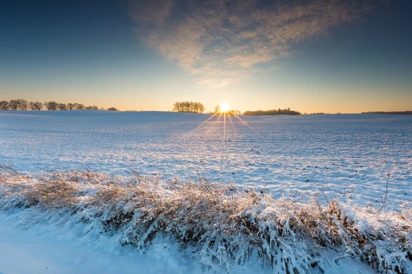
[[[0,100],[412,109],[412,3],[5,1]]]

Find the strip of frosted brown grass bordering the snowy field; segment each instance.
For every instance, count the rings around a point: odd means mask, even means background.
[[[264,188],[92,171],[0,173],[2,210],[36,209],[36,218],[74,219],[87,232],[115,234],[145,251],[157,238],[192,250],[205,269],[255,262],[273,273],[327,272],[328,251],[358,258],[380,273],[407,273],[412,213],[356,208],[337,199],[274,199]]]

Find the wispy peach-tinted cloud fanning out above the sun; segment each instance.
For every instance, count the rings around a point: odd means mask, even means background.
[[[209,86],[245,77],[257,64],[290,55],[292,45],[326,36],[331,27],[362,18],[373,8],[343,0],[140,2],[131,2],[138,38]]]

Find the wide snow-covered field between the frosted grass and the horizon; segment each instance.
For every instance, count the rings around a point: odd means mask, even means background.
[[[0,162],[18,171],[91,169],[266,186],[275,197],[321,188],[365,206],[412,197],[412,116],[209,118],[174,112],[0,112]],[[353,194],[352,194],[353,192]],[[343,197],[343,199],[345,199]]]

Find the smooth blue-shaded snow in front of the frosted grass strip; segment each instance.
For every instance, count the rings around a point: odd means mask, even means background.
[[[0,273],[205,273],[193,254],[182,254],[168,240],[156,240],[146,253],[119,245],[117,238],[99,234],[84,234],[86,225],[69,220],[52,219],[33,225],[35,212],[0,213]],[[345,258],[334,263],[336,254],[328,254],[327,273],[375,273],[370,266]],[[231,273],[273,273],[256,264],[236,266]],[[225,273],[209,271],[209,273]],[[320,273],[320,271],[319,271]],[[318,272],[314,272],[318,274]]]

